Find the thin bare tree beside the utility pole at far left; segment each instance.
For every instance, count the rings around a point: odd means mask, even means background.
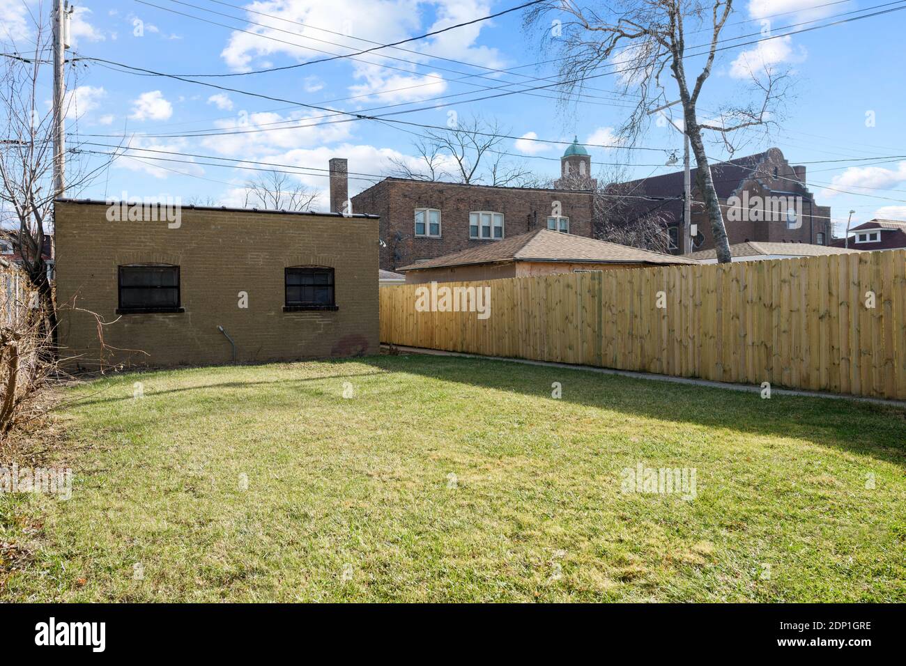
[[[46,93],[41,87],[52,75],[45,55],[50,52],[51,30],[43,23],[41,5],[31,15],[34,23],[30,34],[23,35],[30,48],[19,53],[14,42],[6,43],[5,51],[12,53],[5,53],[0,64],[0,211],[17,261],[40,295],[41,307],[34,308],[34,312],[46,317],[44,332],[55,334],[53,286],[43,252],[45,235],[53,233],[53,199],[61,194],[53,184],[53,126],[57,110],[53,105],[49,109],[45,106]],[[74,78],[72,69],[67,75]],[[76,95],[69,94],[60,112],[74,117],[78,112],[75,104]],[[86,188],[110,164],[109,159],[104,159],[89,168],[81,155],[76,146],[67,150],[66,187],[71,195]]]

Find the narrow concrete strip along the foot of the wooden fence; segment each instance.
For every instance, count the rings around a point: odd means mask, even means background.
[[[481,356],[474,353],[444,352],[439,349],[424,349],[422,347],[405,347],[399,344],[392,345],[400,353],[420,353],[433,356],[462,356],[467,359],[483,359],[485,361],[506,361],[514,363],[526,363],[528,365],[545,365],[551,368],[565,368],[567,370],[583,370],[585,372],[601,372],[602,374],[618,374],[622,377],[631,377],[637,380],[649,381],[670,381],[675,384],[691,384],[693,386],[707,386],[711,389],[727,389],[728,391],[748,391],[750,393],[760,393],[761,386],[751,384],[732,384],[728,381],[709,381],[697,380],[689,377],[672,377],[666,374],[654,374],[652,372],[633,372],[631,370],[613,370],[612,368],[596,368],[591,365],[573,365],[571,363],[554,363],[550,361],[529,361],[527,359],[507,359],[500,356]],[[389,350],[389,344],[381,343],[382,350]],[[826,393],[824,391],[798,391],[795,389],[776,389],[771,387],[771,396],[774,395],[795,395],[805,398],[830,398],[833,400],[845,400],[855,402],[872,402],[876,405],[887,405],[888,407],[899,407],[906,409],[906,401],[886,400],[884,398],[865,398],[857,395],[844,395],[843,393]]]

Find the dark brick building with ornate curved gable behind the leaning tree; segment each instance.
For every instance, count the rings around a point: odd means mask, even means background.
[[[692,219],[698,227],[699,235],[694,239],[694,246],[683,247],[681,226],[683,217],[683,172],[663,174],[649,179],[633,180],[620,183],[614,191],[633,196],[670,198],[646,201],[633,199],[620,208],[620,217],[642,217],[658,215],[670,229],[671,252],[674,254],[689,253],[693,250],[706,250],[714,247],[711,226],[704,206],[699,203],[704,199],[696,185],[698,169],[691,169],[692,175]],[[805,167],[793,166],[776,148],[757,155],[731,159],[726,162],[715,162],[711,165],[711,177],[720,199],[724,224],[730,245],[749,241],[770,243],[814,243],[829,245],[831,242],[831,209],[818,206],[814,195],[806,187]],[[797,202],[791,206],[793,213],[787,215],[785,202]],[[782,210],[772,211],[768,208],[767,220],[758,219],[758,215],[747,212],[757,202],[779,202]],[[761,208],[764,210],[764,208]],[[619,222],[619,220],[616,220]]]

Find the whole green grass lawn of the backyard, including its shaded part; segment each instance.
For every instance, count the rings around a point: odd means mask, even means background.
[[[429,356],[73,391],[0,600],[906,602],[902,410]]]

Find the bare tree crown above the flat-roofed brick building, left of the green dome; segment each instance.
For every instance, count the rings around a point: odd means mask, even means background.
[[[506,159],[506,152],[500,150],[506,134],[497,121],[485,121],[477,116],[458,121],[449,130],[426,130],[412,144],[418,155],[416,163],[391,159],[391,175],[466,185],[521,187],[532,174]]]

